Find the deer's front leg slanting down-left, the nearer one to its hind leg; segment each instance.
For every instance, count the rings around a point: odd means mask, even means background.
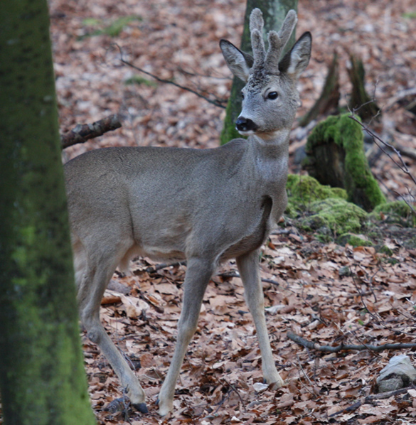
[[[159,393],[159,414],[161,416],[168,414],[174,406],[176,380],[181,371],[188,344],[196,331],[203,294],[205,294],[212,273],[212,262],[206,262],[202,259],[188,259],[183,284],[183,306],[178,322],[178,338],[174,357],[172,357],[168,374]]]

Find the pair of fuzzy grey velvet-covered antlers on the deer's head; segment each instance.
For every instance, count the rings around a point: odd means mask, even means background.
[[[279,75],[279,59],[296,23],[297,14],[294,10],[290,10],[287,12],[286,18],[284,18],[280,31],[278,33],[276,31],[268,33],[269,48],[266,53],[265,42],[263,41],[264,23],[262,11],[257,8],[252,10],[250,14],[250,33],[254,65],[251,72],[255,72],[257,68],[264,67],[267,73]]]

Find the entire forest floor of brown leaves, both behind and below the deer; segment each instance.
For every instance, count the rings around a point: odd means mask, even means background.
[[[218,41],[240,43],[245,2],[237,0],[50,0],[60,129],[109,114],[123,127],[65,150],[67,161],[104,146],[218,146],[225,110],[206,99],[120,63],[226,101],[230,72]],[[299,1],[298,35],[311,31],[311,63],[300,82],[302,117],[319,97],[334,50],[340,58],[341,104],[346,105],[349,53],[366,68],[368,92],[383,109],[382,136],[416,147],[416,117],[405,90],[416,88],[416,7],[413,0]],[[117,28],[117,26],[119,28]],[[134,83],[131,83],[135,81]],[[129,84],[130,82],[130,84]],[[413,93],[413,98],[415,93]],[[225,102],[223,102],[225,106]],[[294,153],[307,132],[294,125]],[[414,161],[405,158],[413,176]],[[373,172],[390,200],[411,200],[414,185],[388,156]],[[415,350],[323,353],[288,338],[291,331],[318,345],[412,343],[416,331],[415,234],[383,224],[390,254],[373,247],[321,243],[285,220],[262,252],[267,326],[286,385],[262,385],[255,329],[235,262],[223,264],[206,293],[195,337],[176,387],[174,412],[161,419],[156,398],[174,350],[185,267],[156,272],[146,259],[132,276],[114,274],[102,321],[126,353],[146,391],[149,414],[105,409],[122,396],[117,377],[84,336],[92,407],[99,424],[416,424],[416,392],[372,397],[375,378],[393,355]],[[409,234],[410,232],[410,234]],[[371,396],[371,397],[368,397]],[[116,406],[117,407],[117,406]]]

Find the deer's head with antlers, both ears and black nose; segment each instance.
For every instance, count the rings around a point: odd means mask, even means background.
[[[309,63],[311,33],[304,33],[281,59],[284,47],[297,23],[297,14],[288,12],[282,28],[267,34],[265,50],[260,9],[250,15],[252,53],[242,52],[233,43],[220,41],[225,62],[236,77],[246,82],[242,89],[242,111],[235,127],[242,135],[255,134],[265,141],[275,139],[278,131],[292,127],[299,106],[297,80]]]

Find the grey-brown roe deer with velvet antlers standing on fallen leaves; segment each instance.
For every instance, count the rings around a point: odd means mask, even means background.
[[[309,63],[311,34],[284,58],[297,22],[289,11],[266,52],[259,9],[250,16],[253,55],[221,40],[225,62],[246,82],[240,134],[215,149],[124,147],[97,149],[65,165],[80,319],[88,338],[112,365],[134,407],[145,394],[100,323],[100,302],[116,267],[134,256],[187,260],[183,308],[159,413],[171,411],[175,384],[196,330],[206,286],[216,265],[235,258],[252,313],[265,382],[281,387],[267,334],[259,250],[287,205],[289,131],[299,104],[297,80]]]

